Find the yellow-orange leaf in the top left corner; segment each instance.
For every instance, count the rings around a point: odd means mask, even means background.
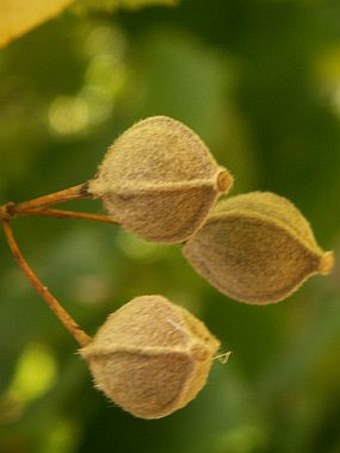
[[[57,16],[73,0],[1,0],[0,47]]]

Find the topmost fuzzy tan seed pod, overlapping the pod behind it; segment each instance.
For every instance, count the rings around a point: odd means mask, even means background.
[[[126,229],[176,243],[204,222],[233,178],[191,129],[165,116],[142,120],[109,148],[88,191]]]

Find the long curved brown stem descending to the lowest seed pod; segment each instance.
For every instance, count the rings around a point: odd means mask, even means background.
[[[62,322],[62,324],[70,332],[70,334],[76,339],[80,346],[86,346],[91,341],[91,337],[79,327],[75,320],[60,305],[59,301],[48,290],[47,286],[45,286],[41,282],[39,277],[33,272],[19,249],[19,246],[13,235],[13,230],[11,228],[9,218],[6,217],[6,214],[3,211],[4,210],[2,210],[1,212],[1,219],[4,232],[11,252],[16,259],[20,269],[24,272],[28,280],[31,282],[32,286],[38,291],[38,293],[42,296],[53,313]]]

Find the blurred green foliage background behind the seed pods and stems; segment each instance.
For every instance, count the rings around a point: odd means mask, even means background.
[[[114,12],[99,3],[0,51],[0,202],[85,181],[119,133],[164,114],[200,134],[233,172],[234,194],[290,198],[337,254],[340,2],[182,0]],[[65,207],[103,212],[95,201]],[[0,235],[2,453],[340,452],[339,268],[277,305],[248,306],[205,283],[180,247],[77,220],[13,225],[89,333],[131,298],[160,293],[233,354],[185,409],[133,418],[92,388],[74,340]]]

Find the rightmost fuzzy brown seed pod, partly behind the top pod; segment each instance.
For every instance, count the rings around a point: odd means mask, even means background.
[[[333,253],[318,246],[301,212],[269,192],[218,203],[183,253],[222,293],[253,304],[278,302],[334,264]]]

